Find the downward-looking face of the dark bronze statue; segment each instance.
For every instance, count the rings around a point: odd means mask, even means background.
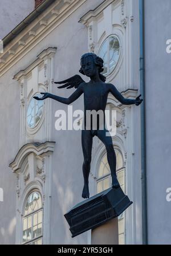
[[[96,74],[97,66],[92,56],[87,56],[81,60],[81,66],[84,74],[89,78]]]

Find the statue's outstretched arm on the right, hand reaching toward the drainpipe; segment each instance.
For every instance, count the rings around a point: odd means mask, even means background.
[[[143,101],[143,99],[140,99],[141,95],[139,95],[136,99],[127,99],[123,97],[123,95],[121,95],[120,92],[117,91],[116,87],[113,86],[113,84],[109,84],[109,92],[111,92],[111,94],[124,105],[140,105]]]

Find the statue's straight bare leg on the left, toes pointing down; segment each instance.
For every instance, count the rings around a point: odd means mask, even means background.
[[[91,131],[82,131],[82,148],[84,155],[83,162],[83,176],[84,176],[84,188],[82,197],[89,198],[89,188],[88,188],[88,177],[91,166],[91,151],[92,151],[92,134]]]

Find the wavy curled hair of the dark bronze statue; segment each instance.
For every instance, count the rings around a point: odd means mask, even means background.
[[[103,72],[103,70],[104,70],[104,68],[103,68],[103,63],[104,63],[104,62],[103,62],[103,59],[101,59],[99,56],[97,56],[97,55],[94,54],[93,52],[88,52],[87,54],[83,54],[83,55],[82,55],[81,61],[82,61],[82,59],[87,58],[88,56],[91,56],[92,59],[94,60],[95,64],[96,64],[96,66],[99,67],[99,77],[100,77],[100,79],[101,79],[103,82],[105,82],[105,80],[106,80],[105,76],[102,75],[102,74],[100,74],[100,73]],[[80,68],[79,72],[80,72],[81,74],[85,75],[85,74],[84,74],[84,71],[83,71],[83,69],[82,69],[82,67]]]

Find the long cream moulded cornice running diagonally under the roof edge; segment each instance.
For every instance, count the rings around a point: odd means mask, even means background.
[[[0,77],[67,19],[86,0],[60,0],[52,3],[3,49]]]

